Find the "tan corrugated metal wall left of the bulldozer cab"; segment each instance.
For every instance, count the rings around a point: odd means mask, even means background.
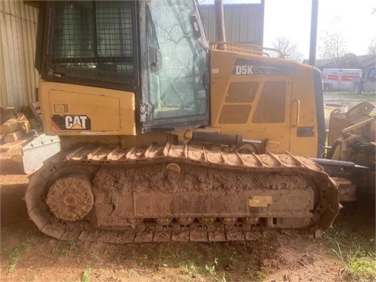
[[[0,0],[0,104],[18,110],[35,102],[39,74],[34,68],[38,9]]]

